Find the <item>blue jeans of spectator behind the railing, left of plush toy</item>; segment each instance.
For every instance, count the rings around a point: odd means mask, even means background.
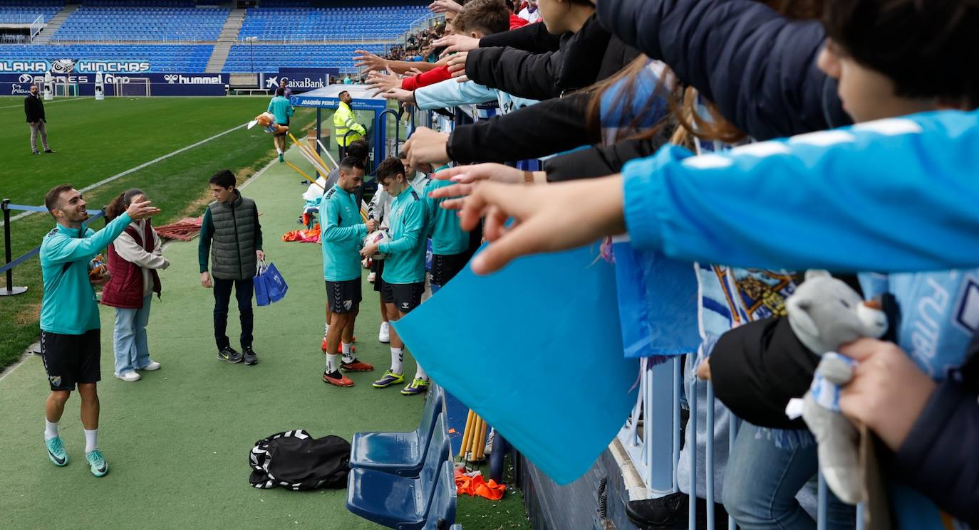
[[[724,473],[724,508],[743,530],[816,530],[796,494],[816,475],[816,444],[782,449],[770,431],[742,421]],[[856,527],[857,509],[829,492],[827,528]]]

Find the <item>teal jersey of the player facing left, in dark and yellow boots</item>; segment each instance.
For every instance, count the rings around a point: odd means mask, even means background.
[[[425,202],[411,186],[406,186],[392,201],[389,219],[391,241],[379,247],[388,254],[381,278],[389,284],[424,282]]]

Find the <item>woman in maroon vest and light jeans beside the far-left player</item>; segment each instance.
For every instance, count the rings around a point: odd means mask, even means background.
[[[133,202],[146,200],[149,199],[142,190],[126,190],[106,207],[106,218],[115,219]],[[138,381],[139,371],[160,370],[160,363],[150,358],[146,326],[150,322],[153,293],[159,297],[162,290],[157,271],[170,266],[163,257],[163,243],[150,219],[133,221],[109,244],[108,265],[112,277],[102,287],[102,304],[116,308],[113,329],[116,376],[124,381]]]

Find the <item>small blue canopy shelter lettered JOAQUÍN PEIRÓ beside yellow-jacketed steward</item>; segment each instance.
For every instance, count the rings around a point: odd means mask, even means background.
[[[321,140],[323,145],[327,149],[333,149],[336,145],[336,141],[331,138],[333,131],[333,121],[328,121],[326,125],[326,131],[330,131],[329,134],[324,135],[323,131],[323,109],[337,109],[340,107],[340,93],[344,91],[350,92],[350,96],[353,101],[350,102],[350,109],[360,112],[370,112],[371,119],[369,123],[361,123],[367,130],[367,141],[371,143],[371,159],[368,162],[368,173],[374,172],[374,167],[383,160],[386,156],[386,146],[388,143],[387,138],[387,127],[384,126],[384,119],[386,118],[385,110],[388,110],[388,100],[377,96],[371,97],[371,90],[365,85],[330,85],[323,88],[318,88],[309,92],[304,92],[303,94],[294,95],[290,98],[290,102],[293,107],[308,107],[316,109],[316,138]],[[396,110],[392,110],[392,113],[396,113]],[[316,152],[319,153],[320,149],[317,145]]]

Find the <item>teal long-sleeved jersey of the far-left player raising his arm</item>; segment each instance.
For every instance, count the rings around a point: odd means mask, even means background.
[[[95,232],[58,225],[41,242],[41,330],[82,334],[98,330],[99,305],[88,281],[88,262],[112,243],[132,219],[123,212],[106,228]]]

